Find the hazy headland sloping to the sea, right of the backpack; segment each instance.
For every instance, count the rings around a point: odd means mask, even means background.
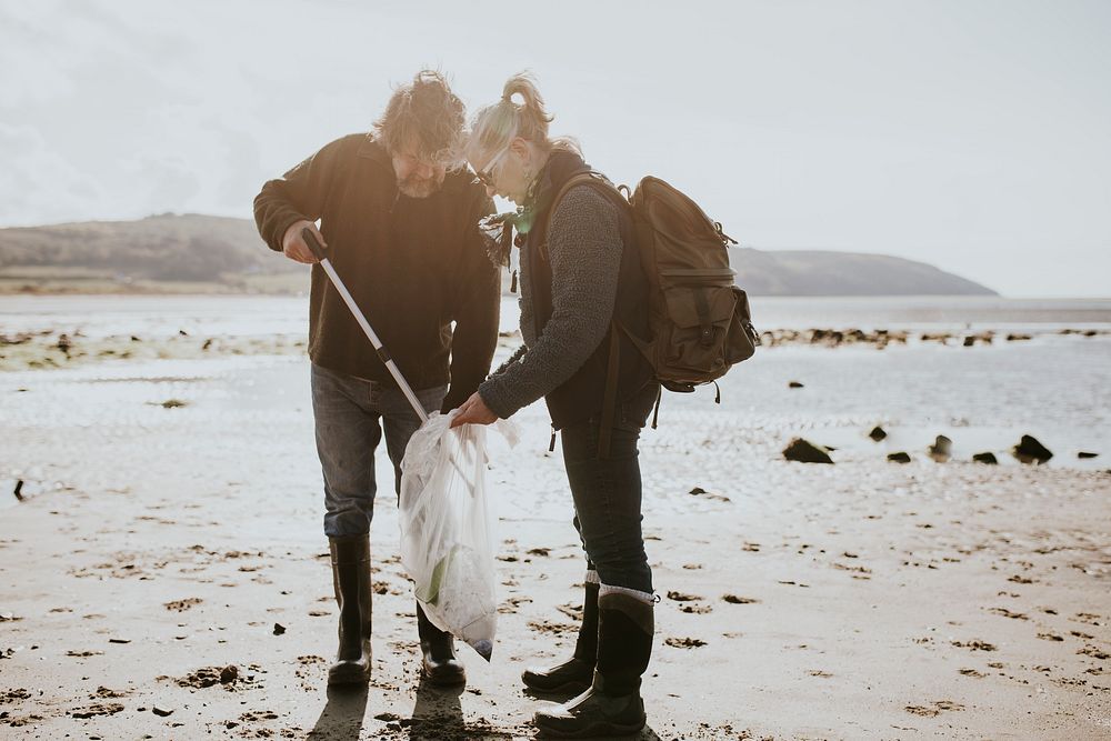
[[[752,296],[998,296],[924,262],[887,254],[730,249],[737,283]]]

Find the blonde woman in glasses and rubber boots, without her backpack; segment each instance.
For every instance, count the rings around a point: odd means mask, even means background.
[[[524,346],[479,385],[454,424],[489,424],[541,397],[587,553],[574,655],[529,669],[540,692],[582,691],[546,707],[551,735],[633,733],[644,725],[641,675],[654,631],[652,571],[641,533],[640,430],[659,384],[629,336],[648,333],[648,284],[624,203],[573,140],[551,139],[536,83],[511,78],[478,112],[466,154],[489,194],[518,204],[507,218],[520,249]],[[592,178],[572,178],[592,173]]]

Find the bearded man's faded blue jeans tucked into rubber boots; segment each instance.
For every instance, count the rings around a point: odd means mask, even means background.
[[[448,387],[417,391],[424,411],[440,409]],[[386,428],[394,490],[401,494],[401,459],[420,418],[399,390],[312,366],[312,414],[324,474],[324,534],[370,532],[374,514],[374,450]],[[380,424],[381,421],[381,424]]]

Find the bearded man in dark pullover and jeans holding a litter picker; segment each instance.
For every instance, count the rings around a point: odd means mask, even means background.
[[[427,412],[446,412],[474,393],[498,338],[498,268],[478,228],[493,202],[460,166],[463,121],[463,104],[443,76],[423,70],[393,92],[369,133],[327,144],[254,199],[270,249],[316,262],[303,229],[324,246]],[[359,683],[369,679],[371,660],[374,450],[384,431],[400,494],[401,459],[420,419],[319,266],[309,358],[339,604],[339,650],[328,681]],[[452,637],[420,604],[417,624],[424,675],[437,684],[464,682]]]

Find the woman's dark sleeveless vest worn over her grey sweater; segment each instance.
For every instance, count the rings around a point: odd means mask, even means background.
[[[557,151],[548,160],[541,177],[541,189],[550,189],[548,198],[559,193],[563,184],[575,174],[589,172],[590,168],[572,152]],[[648,280],[640,266],[637,251],[637,232],[629,207],[611,186],[594,187],[613,201],[620,214],[621,267],[618,276],[617,301],[609,331],[582,368],[562,385],[556,388],[544,400],[551,414],[552,427],[561,429],[592,418],[600,419],[603,429],[613,424],[613,419],[602,419],[605,402],[607,377],[615,372],[615,398],[618,404],[644,388],[652,378],[652,369],[637,347],[625,336],[627,332],[648,339]],[[544,193],[538,194],[543,202]],[[548,224],[553,207],[549,203],[534,220],[537,227],[523,236],[522,250],[529,251],[528,290],[531,294],[536,336],[543,334],[543,328],[552,316],[552,269],[548,259]],[[614,324],[620,324],[620,329]],[[617,350],[617,366],[611,366],[611,350]],[[612,414],[612,410],[610,411]],[[603,445],[603,449],[608,445]]]

